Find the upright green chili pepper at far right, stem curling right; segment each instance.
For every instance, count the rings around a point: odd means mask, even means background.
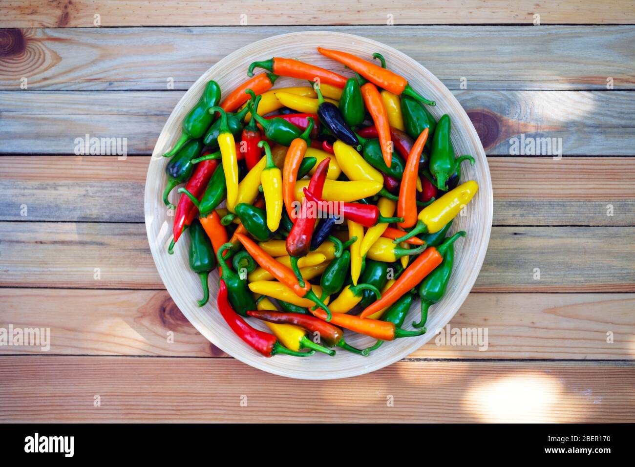
[[[429,170],[436,180],[435,186],[441,190],[448,189],[446,182],[457,172],[457,168],[463,161],[469,160],[474,165],[472,156],[455,158],[454,147],[450,140],[450,128],[450,116],[445,114],[439,119],[432,139]]]

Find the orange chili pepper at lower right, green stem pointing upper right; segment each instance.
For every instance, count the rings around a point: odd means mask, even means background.
[[[368,305],[359,316],[361,318],[366,318],[366,316],[377,313],[377,311],[380,311],[387,306],[391,306],[394,302],[398,301],[402,295],[408,293],[408,290],[415,287],[425,278],[425,276],[430,274],[435,267],[441,264],[445,250],[447,250],[448,247],[450,247],[450,245],[460,236],[465,236],[465,232],[460,231],[455,233],[453,236],[448,238],[448,240],[441,243],[441,245],[437,248],[427,248],[427,250],[420,254],[415,261],[411,262],[410,266],[408,266],[401,276],[399,276],[399,279],[392,284],[392,287],[382,294],[382,298]]]

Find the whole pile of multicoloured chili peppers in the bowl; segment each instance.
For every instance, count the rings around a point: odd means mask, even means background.
[[[164,154],[163,201],[175,209],[168,252],[187,230],[199,306],[218,267],[218,311],[264,356],[368,356],[423,334],[465,236],[448,236],[452,220],[478,191],[473,180],[459,184],[462,161],[474,158],[455,155],[450,116],[436,121],[434,102],[384,57],[318,51],[355,76],[290,58],[254,62],[226,96],[208,83]],[[274,89],[278,76],[310,85]],[[406,330],[417,295],[421,316]],[[354,348],[342,328],[377,343]]]

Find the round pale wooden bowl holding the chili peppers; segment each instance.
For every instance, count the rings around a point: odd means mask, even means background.
[[[265,358],[241,341],[218,313],[216,305],[218,274],[216,272],[210,274],[210,302],[203,308],[197,306],[196,301],[202,296],[202,290],[196,274],[192,273],[188,266],[187,234],[178,241],[175,254],[167,253],[173,217],[161,201],[161,193],[166,185],[164,169],[168,163],[168,159],[162,158],[161,154],[177,141],[181,133],[182,119],[197,102],[206,83],[214,79],[225,95],[247,79],[247,67],[255,60],[266,60],[274,56],[292,57],[351,76],[351,72],[344,69],[343,65],[320,55],[316,50],[318,45],[351,52],[368,60],[372,60],[373,52],[380,52],[386,58],[390,69],[402,74],[422,95],[435,100],[436,107],[429,107],[429,110],[437,119],[443,114],[450,114],[453,123],[451,139],[457,155],[472,154],[476,158],[474,166],[470,166],[469,163],[462,165],[462,181],[476,180],[479,191],[467,206],[467,215],[458,216],[453,224],[453,232],[465,230],[467,237],[455,243],[455,269],[444,299],[431,307],[426,325],[427,334],[385,342],[382,347],[365,358],[343,349],[337,349],[337,355],[334,357],[316,354],[308,358],[286,355]],[[279,78],[276,81],[276,88],[289,86],[292,83],[298,85],[297,80]],[[175,189],[171,193],[170,200],[176,203],[178,196],[180,195]],[[252,367],[300,379],[335,379],[368,373],[401,360],[432,339],[436,330],[444,328],[458,311],[476,281],[490,240],[492,210],[491,179],[485,151],[467,114],[448,88],[422,65],[400,51],[365,37],[340,32],[294,32],[269,37],[243,47],[220,60],[192,85],[168,118],[154,147],[145,183],[145,225],[150,250],[152,250],[152,257],[163,283],[178,308],[201,334],[229,355]],[[418,313],[419,302],[417,301],[406,318],[405,328],[410,328],[410,324],[417,320]],[[255,327],[266,329],[257,320],[250,319],[249,321]],[[374,342],[366,336],[348,332],[346,339],[359,348]]]

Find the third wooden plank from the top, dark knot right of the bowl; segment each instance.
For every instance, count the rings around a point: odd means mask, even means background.
[[[454,91],[471,117],[488,155],[513,152],[514,142],[556,139],[550,154],[631,156],[635,154],[629,91]],[[126,154],[151,154],[182,91],[0,91],[2,152],[76,154],[90,137],[120,138]],[[37,138],[25,138],[37,128]],[[521,136],[524,135],[524,136]],[[524,138],[521,140],[521,138]],[[521,141],[525,141],[521,143]],[[551,142],[551,141],[550,141]],[[122,151],[123,152],[123,151]],[[544,152],[543,152],[544,154]],[[552,156],[542,156],[552,158]]]

